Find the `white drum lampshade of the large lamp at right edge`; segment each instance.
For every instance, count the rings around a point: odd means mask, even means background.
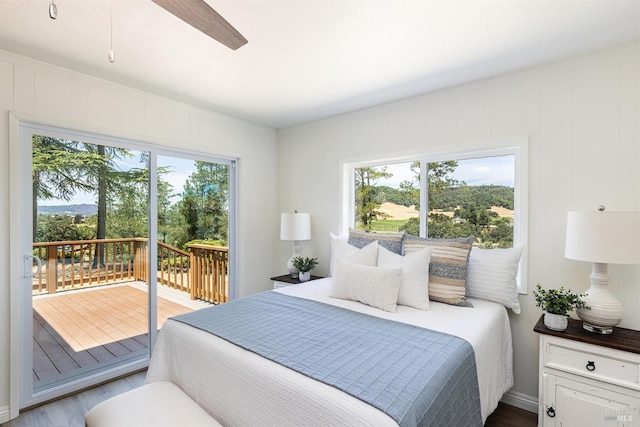
[[[606,264],[640,263],[640,214],[569,212],[564,256]]]

